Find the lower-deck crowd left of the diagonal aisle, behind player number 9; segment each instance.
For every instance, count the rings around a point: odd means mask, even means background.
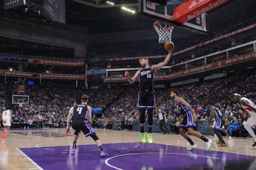
[[[10,94],[17,94],[17,81],[9,81]],[[82,93],[88,94],[89,105],[94,108],[102,107],[104,110],[123,88],[87,89],[85,92],[72,89],[72,85],[61,82],[44,82],[41,85],[26,85],[24,95],[29,96],[29,103],[19,110],[22,127],[24,128],[64,128],[67,125],[67,115],[73,102],[80,103]],[[4,102],[4,101],[3,101]],[[4,104],[2,105],[2,110]],[[107,118],[105,118],[107,120]],[[105,119],[102,119],[104,122]],[[2,123],[1,123],[2,124]],[[105,127],[105,126],[104,126]]]

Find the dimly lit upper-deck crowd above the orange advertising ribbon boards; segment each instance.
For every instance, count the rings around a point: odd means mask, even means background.
[[[252,25],[256,22],[255,16],[256,9],[248,9],[242,14],[237,14],[232,18],[223,19],[217,22],[214,25],[211,25],[209,28],[209,33],[207,35],[191,33],[189,38],[187,37],[174,37],[172,36],[172,42],[177,44],[175,46],[174,53],[184,50],[188,47],[192,47],[196,44],[200,44],[202,42],[208,41],[210,39],[214,39],[221,35],[225,35],[229,32],[236,31],[240,28],[243,28],[248,25]],[[225,28],[225,29],[223,29]],[[236,42],[235,44],[230,44],[230,46],[218,46],[212,49],[209,53],[217,52],[232,46],[239,45],[241,43],[245,43],[248,40],[242,40],[240,42]],[[131,50],[131,47],[133,49]],[[132,52],[131,52],[132,51]],[[90,52],[91,52],[91,59],[110,59],[116,57],[135,57],[135,56],[145,56],[145,55],[163,55],[166,54],[166,50],[164,49],[163,44],[158,42],[158,39],[145,39],[145,40],[138,40],[138,41],[129,41],[127,42],[108,42],[108,43],[101,43],[101,44],[90,44]],[[195,56],[195,58],[200,57],[205,54],[200,54]],[[189,57],[186,60],[189,60]]]

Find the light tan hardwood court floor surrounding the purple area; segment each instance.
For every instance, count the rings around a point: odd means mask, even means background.
[[[30,129],[29,130],[27,129],[12,130],[11,129],[10,131],[7,132],[5,139],[2,139],[2,143],[0,144],[1,145],[0,146],[0,149],[1,149],[0,169],[1,170],[2,169],[3,170],[39,169],[38,166],[35,166],[35,164],[32,163],[31,159],[33,158],[29,158],[28,156],[24,155],[17,148],[72,146],[73,136],[65,135],[65,130],[66,130],[65,128],[57,128],[57,129],[50,128],[50,129],[40,129],[40,130],[30,130]],[[104,144],[114,145],[113,143],[140,143],[141,142],[140,132],[99,130],[99,129],[96,129],[95,131],[103,144],[103,148],[104,148]],[[2,135],[2,132],[3,131],[1,131],[0,133],[1,135]],[[199,149],[204,149],[204,150],[206,149],[206,145],[201,139],[198,139],[194,136],[190,136],[190,137],[197,144]],[[207,137],[207,138],[212,139],[213,137]],[[224,138],[224,140],[227,142],[228,138]],[[251,146],[253,144],[252,139],[236,139],[235,138],[234,140],[235,140],[234,143],[228,143],[228,147],[218,147],[217,144],[213,142],[211,150],[256,156],[256,148],[252,148]],[[185,147],[189,146],[189,143],[184,138],[182,138],[182,136],[174,135],[174,134],[163,135],[161,133],[153,133],[153,143],[173,145],[173,146],[185,146]],[[95,144],[93,139],[90,137],[85,138],[81,133],[81,136],[78,138],[77,145],[91,146],[92,144]],[[94,145],[92,146],[94,147]],[[153,146],[150,146],[150,147],[153,147]],[[139,147],[137,148],[139,149]],[[181,149],[183,150],[183,148]],[[184,151],[185,150],[186,148],[184,148]],[[69,152],[69,151],[66,151],[66,152]],[[96,152],[96,153],[99,156],[99,152]],[[210,153],[210,152],[207,152],[207,153]],[[44,156],[45,158],[47,158],[48,156],[47,153],[45,153]],[[56,157],[58,157],[58,155],[56,155]],[[77,169],[81,169],[81,168],[77,167]],[[236,167],[233,166],[233,169],[236,169]]]

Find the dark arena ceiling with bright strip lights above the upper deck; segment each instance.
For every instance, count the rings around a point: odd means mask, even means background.
[[[66,0],[67,24],[89,26],[89,34],[152,29],[154,21],[142,18],[137,14],[138,0],[111,0],[114,5],[109,5],[107,1]],[[246,3],[244,3],[244,0],[231,0],[219,8],[210,11],[208,14],[218,10],[218,13],[222,15],[210,15],[209,20],[216,21],[223,19],[223,14],[227,12],[227,8],[224,7],[227,5],[230,6],[228,8],[229,11],[237,14],[251,4],[255,4],[255,0],[247,0]],[[135,13],[124,11],[121,8],[122,6],[135,11]]]

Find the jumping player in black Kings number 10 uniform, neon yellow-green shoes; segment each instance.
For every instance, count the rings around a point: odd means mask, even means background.
[[[173,48],[174,49],[174,48]],[[173,51],[172,49],[172,51]],[[158,63],[157,65],[148,66],[148,59],[141,57],[139,59],[141,69],[131,78],[129,72],[125,72],[124,76],[132,84],[139,79],[139,96],[137,101],[137,108],[140,110],[140,137],[142,143],[146,143],[146,137],[144,132],[145,113],[148,109],[148,143],[153,143],[152,139],[152,126],[153,126],[153,110],[156,109],[155,100],[155,74],[156,71],[164,67],[169,63],[172,51],[165,58],[164,62]]]

